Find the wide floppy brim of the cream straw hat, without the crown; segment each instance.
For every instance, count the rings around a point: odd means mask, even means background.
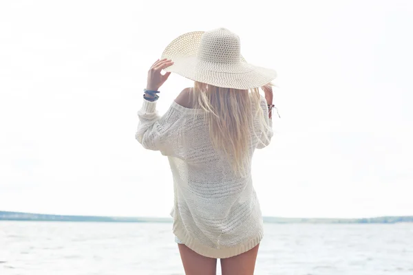
[[[173,40],[162,53],[162,58],[173,61],[165,69],[200,83],[223,88],[253,89],[262,87],[277,78],[273,69],[257,67],[246,63],[210,63],[200,60],[196,55],[201,36],[204,32],[189,32]]]

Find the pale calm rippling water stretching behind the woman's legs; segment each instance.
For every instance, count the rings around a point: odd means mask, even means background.
[[[171,223],[0,221],[0,274],[184,272]],[[412,275],[413,223],[266,224],[255,274]]]

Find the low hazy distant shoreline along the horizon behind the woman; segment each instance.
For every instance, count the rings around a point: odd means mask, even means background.
[[[264,223],[412,223],[413,216],[386,216],[362,219],[330,219],[330,218],[282,218],[263,217]],[[25,212],[0,211],[0,221],[76,221],[107,223],[171,223],[172,218],[156,217],[104,217],[104,216],[71,216],[56,214],[36,214]]]

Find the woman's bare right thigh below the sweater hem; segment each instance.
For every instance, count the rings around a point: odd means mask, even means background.
[[[240,255],[221,259],[222,275],[253,275],[259,246]]]

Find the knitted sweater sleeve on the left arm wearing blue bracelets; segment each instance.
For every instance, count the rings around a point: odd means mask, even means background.
[[[156,102],[143,100],[138,111],[138,129],[135,137],[144,148],[160,151],[162,155],[175,156],[178,148],[179,110],[170,107],[165,115],[158,115]]]

